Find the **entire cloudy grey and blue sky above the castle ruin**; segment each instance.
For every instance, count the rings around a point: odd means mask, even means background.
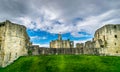
[[[120,0],[0,0],[0,22],[27,27],[33,44],[63,39],[85,42],[105,24],[120,24]]]

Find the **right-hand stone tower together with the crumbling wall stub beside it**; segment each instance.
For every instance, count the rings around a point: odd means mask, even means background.
[[[85,43],[83,50],[87,54],[96,50],[99,55],[120,56],[120,24],[108,24],[99,28],[93,40]]]

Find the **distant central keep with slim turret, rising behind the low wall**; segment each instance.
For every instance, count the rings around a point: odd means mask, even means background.
[[[61,34],[58,34],[58,39],[50,42],[50,48],[74,48],[74,42],[69,39],[62,40]]]

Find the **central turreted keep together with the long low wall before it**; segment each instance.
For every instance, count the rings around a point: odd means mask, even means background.
[[[31,55],[83,54],[82,48],[74,48],[74,42],[69,39],[62,40],[61,34],[58,34],[57,40],[50,42],[50,48],[33,45],[28,48],[28,51]]]

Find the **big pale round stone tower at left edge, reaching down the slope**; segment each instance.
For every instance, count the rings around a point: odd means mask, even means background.
[[[30,38],[26,27],[6,20],[0,23],[0,67],[5,67],[20,56],[27,55]]]

